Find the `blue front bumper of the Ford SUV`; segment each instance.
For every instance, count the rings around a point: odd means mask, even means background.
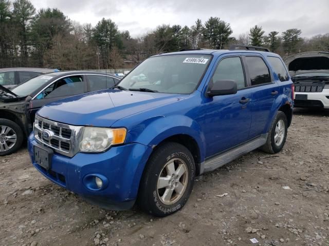
[[[28,151],[33,166],[46,178],[92,203],[106,209],[129,209],[137,197],[139,181],[152,149],[133,143],[112,147],[104,153],[78,153],[67,157],[54,153],[50,170],[39,166],[34,160],[34,146],[38,145],[33,133],[28,138]],[[100,174],[107,178],[107,186],[90,190],[84,177]]]

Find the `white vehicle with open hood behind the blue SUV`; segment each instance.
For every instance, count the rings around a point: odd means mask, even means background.
[[[294,106],[329,109],[329,52],[303,52],[285,63],[295,84]]]

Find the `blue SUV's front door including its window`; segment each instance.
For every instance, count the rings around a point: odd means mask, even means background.
[[[246,88],[242,58],[220,58],[209,83],[234,80],[237,93],[206,98],[204,105],[206,157],[225,151],[248,140],[251,122],[251,90]]]

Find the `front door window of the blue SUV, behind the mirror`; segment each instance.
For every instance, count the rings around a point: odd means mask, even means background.
[[[240,57],[228,57],[220,61],[212,81],[217,80],[234,80],[237,85],[237,89],[245,87],[245,75],[242,68],[242,62]]]

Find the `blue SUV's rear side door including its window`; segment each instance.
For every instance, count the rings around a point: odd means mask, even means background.
[[[279,88],[265,59],[259,54],[245,55],[247,85],[252,89],[251,126],[249,139],[267,132],[272,118],[272,107]]]

